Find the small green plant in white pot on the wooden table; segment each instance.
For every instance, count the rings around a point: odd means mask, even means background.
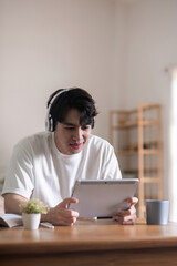
[[[41,214],[48,213],[46,206],[39,200],[29,200],[20,203],[22,221],[25,229],[38,229]]]

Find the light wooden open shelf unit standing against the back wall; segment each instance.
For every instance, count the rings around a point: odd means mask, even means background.
[[[124,175],[139,178],[138,217],[143,218],[146,194],[158,200],[163,194],[160,105],[139,104],[131,111],[110,111],[110,142],[123,173],[127,172]],[[133,171],[135,164],[137,171]],[[150,194],[154,191],[156,195]]]

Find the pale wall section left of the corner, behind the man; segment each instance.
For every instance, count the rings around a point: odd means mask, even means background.
[[[0,0],[0,22],[1,175],[14,143],[44,130],[46,100],[59,88],[94,96],[95,133],[107,139],[116,106],[114,1]]]

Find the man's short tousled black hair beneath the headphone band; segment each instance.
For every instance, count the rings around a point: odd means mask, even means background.
[[[59,96],[55,96],[56,94],[59,94]],[[52,99],[54,99],[53,102]],[[53,120],[53,131],[55,130],[56,122],[64,122],[65,116],[71,109],[79,111],[80,125],[90,124],[92,129],[94,127],[94,117],[97,115],[95,101],[81,88],[56,90],[50,96],[48,108],[50,108],[50,114]]]

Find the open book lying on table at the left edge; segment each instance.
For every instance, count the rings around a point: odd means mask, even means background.
[[[22,216],[18,214],[0,214],[0,226],[14,227],[22,225]]]

